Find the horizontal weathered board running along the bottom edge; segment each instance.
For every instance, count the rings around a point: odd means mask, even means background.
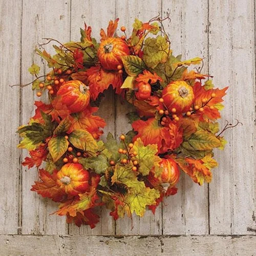
[[[256,236],[8,236],[0,235],[3,255],[255,255]]]

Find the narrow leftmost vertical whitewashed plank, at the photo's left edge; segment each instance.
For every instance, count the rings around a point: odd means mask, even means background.
[[[17,233],[20,226],[20,152],[15,145],[19,126],[19,88],[8,85],[20,82],[20,38],[22,6],[19,2],[0,2],[0,102],[1,102],[1,179],[0,179],[0,233]],[[10,19],[9,17],[13,18]],[[13,117],[13,118],[10,118]]]

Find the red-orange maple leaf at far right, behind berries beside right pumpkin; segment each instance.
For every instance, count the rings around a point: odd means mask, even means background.
[[[196,82],[193,87],[193,91],[195,95],[194,104],[201,106],[203,99],[207,99],[208,102],[206,105],[204,105],[204,111],[203,112],[198,111],[195,117],[205,116],[212,120],[220,118],[221,115],[220,115],[219,109],[220,109],[220,106],[222,106],[222,104],[220,103],[223,101],[222,97],[226,95],[225,92],[227,89],[228,87],[225,87],[221,90],[220,89],[206,90],[205,86],[202,86],[200,82]],[[211,97],[212,93],[216,94],[214,98]],[[214,109],[211,110],[210,107],[214,107]]]

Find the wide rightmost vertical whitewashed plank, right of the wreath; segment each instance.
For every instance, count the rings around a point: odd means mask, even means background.
[[[221,126],[225,119],[243,123],[225,132],[228,144],[224,152],[216,152],[210,232],[249,234],[256,227],[254,3],[209,3],[209,71],[216,86],[229,86]]]

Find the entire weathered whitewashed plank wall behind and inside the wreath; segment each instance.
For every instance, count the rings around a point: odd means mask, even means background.
[[[256,255],[254,2],[0,0],[0,254],[32,255],[34,250],[34,255]],[[219,167],[214,169],[209,186],[199,187],[182,175],[178,194],[166,199],[155,215],[148,211],[144,218],[134,217],[133,230],[129,219],[114,222],[106,210],[93,230],[68,225],[65,218],[49,215],[56,209],[55,203],[30,191],[37,172],[22,167],[26,152],[16,149],[19,138],[15,131],[28,121],[33,100],[38,98],[30,88],[11,89],[8,84],[31,81],[27,69],[33,61],[47,72],[33,54],[43,37],[79,40],[79,28],[86,22],[93,27],[93,36],[99,38],[100,28],[106,28],[116,17],[129,33],[135,17],[146,21],[158,13],[170,13],[166,31],[174,53],[182,53],[183,58],[203,56],[204,72],[214,75],[215,85],[229,86],[223,120],[233,122],[237,118],[243,126],[226,132],[228,143],[223,152],[216,151]],[[129,130],[124,117],[127,111],[108,92],[100,109],[108,122],[105,132],[118,136]],[[88,234],[153,237],[84,236]],[[92,243],[95,250],[87,249]]]

